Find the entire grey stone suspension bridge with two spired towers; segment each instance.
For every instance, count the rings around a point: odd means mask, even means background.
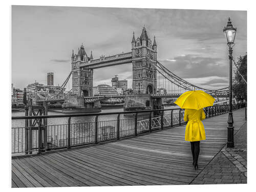
[[[146,106],[150,103],[150,105],[153,106],[153,100],[159,105],[161,104],[161,98],[177,98],[185,91],[194,89],[203,90],[215,98],[228,97],[228,87],[219,90],[204,89],[187,82],[163,66],[157,60],[156,38],[154,36],[152,42],[145,27],[143,27],[139,37],[135,38],[135,34],[133,33],[131,44],[131,52],[106,57],[102,55],[96,59],[93,58],[92,51],[89,57],[84,46],[81,45],[80,48],[78,48],[77,54],[74,54],[74,50],[72,52],[72,70],[61,87],[66,86],[72,75],[72,92],[70,92],[70,94],[72,94],[73,97],[75,95],[75,97],[79,99],[78,103],[80,103],[80,106],[84,106],[85,103],[94,105],[94,101],[97,102],[105,98],[105,96],[99,98],[93,95],[94,69],[132,63],[133,92],[131,95],[126,95],[125,97],[121,96],[121,99],[132,99],[134,100],[133,103],[137,105],[139,103]],[[166,93],[157,93],[157,88],[164,89]],[[115,97],[116,96],[113,96],[112,98]],[[39,99],[38,102],[42,102],[43,100],[44,99]],[[54,102],[55,100],[55,98],[49,98],[48,102]],[[58,98],[56,101],[60,100],[61,98]],[[64,102],[65,99],[62,98],[61,101]],[[127,104],[129,102],[127,101],[125,103]]]

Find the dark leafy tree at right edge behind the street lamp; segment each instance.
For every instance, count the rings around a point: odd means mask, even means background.
[[[247,53],[238,58],[238,62],[234,67],[233,78],[233,96],[238,100],[247,101]],[[245,82],[246,81],[246,82]]]

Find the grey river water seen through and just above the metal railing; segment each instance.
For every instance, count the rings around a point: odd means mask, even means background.
[[[177,109],[173,111],[173,123],[179,122],[178,106],[166,106],[165,109]],[[171,111],[165,111],[163,122],[165,126],[170,126]],[[119,109],[103,109],[101,113],[123,112]],[[60,115],[62,112],[49,111],[48,115]],[[25,116],[25,112],[12,112],[12,116]],[[135,117],[120,115],[119,127],[120,137],[133,135],[135,132]],[[160,116],[152,118],[152,127],[160,127]],[[137,132],[149,129],[148,115],[138,115]],[[71,145],[90,143],[95,141],[95,126],[98,126],[98,141],[116,138],[117,135],[117,115],[100,115],[98,123],[95,123],[95,116],[72,117],[71,124],[68,125],[68,118],[48,118],[47,120],[47,142],[48,148],[65,147],[68,144],[68,127],[70,127]],[[35,123],[34,123],[35,122]],[[32,150],[38,148],[38,125],[32,120],[35,127],[32,127]],[[26,145],[25,120],[12,120],[12,154],[25,152]]]

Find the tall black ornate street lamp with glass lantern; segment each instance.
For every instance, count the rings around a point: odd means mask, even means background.
[[[223,32],[227,38],[227,45],[229,47],[229,113],[227,119],[227,147],[234,147],[234,127],[233,127],[233,114],[232,114],[232,47],[234,46],[234,38],[236,37],[237,28],[234,28],[228,17],[227,26],[224,27]]]

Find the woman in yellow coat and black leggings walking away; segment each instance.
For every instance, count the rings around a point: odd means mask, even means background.
[[[201,121],[204,119],[205,113],[203,109],[185,109],[184,121],[188,121],[185,130],[185,141],[190,141],[195,169],[198,169],[200,141],[205,140],[204,125]]]

